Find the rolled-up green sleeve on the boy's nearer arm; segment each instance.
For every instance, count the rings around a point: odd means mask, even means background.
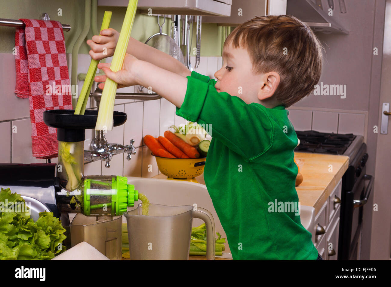
[[[185,99],[176,109],[178,116],[204,124],[213,138],[246,159],[270,148],[274,128],[263,109],[237,96],[217,92],[216,80],[208,76],[192,71],[187,79]]]

